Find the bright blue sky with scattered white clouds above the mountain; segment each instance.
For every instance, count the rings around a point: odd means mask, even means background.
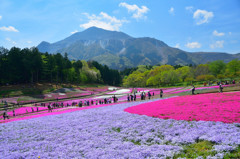
[[[37,46],[97,26],[185,51],[240,53],[239,0],[0,0],[0,46]]]

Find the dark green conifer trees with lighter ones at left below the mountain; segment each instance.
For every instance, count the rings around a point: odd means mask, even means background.
[[[67,53],[41,53],[37,48],[0,48],[0,84],[101,83],[120,85],[120,73],[96,61],[72,60]]]

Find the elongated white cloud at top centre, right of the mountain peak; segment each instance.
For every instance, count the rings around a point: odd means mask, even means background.
[[[135,19],[145,18],[146,16],[144,16],[144,14],[149,11],[146,6],[139,8],[136,4],[130,5],[125,2],[120,3],[119,6],[127,8],[128,12],[133,12],[132,17]]]

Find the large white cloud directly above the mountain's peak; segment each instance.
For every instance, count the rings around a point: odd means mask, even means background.
[[[83,13],[87,18],[88,22],[81,24],[80,27],[87,29],[89,27],[98,27],[106,30],[119,30],[123,23],[128,22],[127,20],[119,20],[114,16],[110,16],[107,13],[101,12],[99,16],[95,14],[89,15],[88,13]]]

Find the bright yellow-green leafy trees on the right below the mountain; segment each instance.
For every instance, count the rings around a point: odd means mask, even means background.
[[[140,65],[123,79],[126,87],[167,86],[191,84],[192,82],[210,82],[214,80],[233,80],[240,77],[240,61],[234,59],[228,63],[221,60],[196,66],[144,66]]]

